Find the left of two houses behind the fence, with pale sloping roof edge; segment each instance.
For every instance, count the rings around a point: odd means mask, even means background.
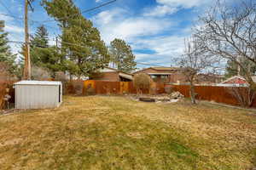
[[[131,82],[133,75],[124,71],[118,71],[110,67],[104,67],[90,77],[90,80],[108,82]]]

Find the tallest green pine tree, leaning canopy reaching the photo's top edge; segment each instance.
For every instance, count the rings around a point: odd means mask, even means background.
[[[47,13],[61,26],[61,51],[66,56],[66,69],[78,77],[108,65],[108,48],[100,32],[86,20],[72,0],[43,0]]]

